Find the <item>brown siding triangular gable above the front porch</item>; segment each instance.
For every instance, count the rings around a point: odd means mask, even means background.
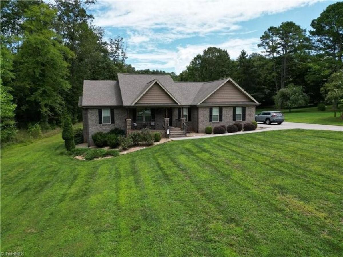
[[[136,103],[173,103],[173,98],[171,98],[168,93],[160,86],[158,83],[152,85],[145,94]]]

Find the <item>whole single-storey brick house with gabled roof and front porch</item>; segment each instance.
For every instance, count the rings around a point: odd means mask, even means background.
[[[255,120],[259,103],[231,78],[174,82],[170,75],[118,74],[118,81],[85,80],[79,99],[84,140],[114,127],[150,128],[163,136],[204,133],[206,126]]]

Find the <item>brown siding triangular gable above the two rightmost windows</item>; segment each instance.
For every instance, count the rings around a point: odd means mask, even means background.
[[[212,95],[206,98],[202,103],[206,102],[239,102],[251,101],[242,91],[235,87],[231,82],[226,82],[218,88]]]

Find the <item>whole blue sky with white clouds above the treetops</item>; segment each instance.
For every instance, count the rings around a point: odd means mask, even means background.
[[[293,21],[307,30],[330,4],[325,0],[98,0],[91,12],[106,38],[121,36],[127,63],[136,69],[177,74],[210,46],[235,59],[241,49],[261,52],[259,37],[269,26]]]

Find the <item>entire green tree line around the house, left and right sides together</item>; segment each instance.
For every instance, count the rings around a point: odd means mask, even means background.
[[[63,113],[80,121],[83,80],[116,80],[118,73],[170,74],[175,81],[232,77],[263,105],[273,104],[279,91],[292,86],[301,87],[313,103],[327,99],[338,106],[342,98],[337,96],[343,81],[342,2],[311,22],[310,35],[284,22],[261,36],[263,54],[242,50],[232,60],[227,50],[210,47],[179,75],[127,64],[123,38],[106,41],[104,28],[93,24],[88,12],[93,4],[95,0],[1,1],[1,140],[31,123],[43,129],[59,125]]]

